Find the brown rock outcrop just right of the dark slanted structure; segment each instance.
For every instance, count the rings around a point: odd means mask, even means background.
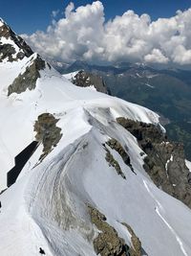
[[[61,128],[55,125],[59,119],[55,119],[50,113],[43,113],[38,116],[38,120],[34,124],[34,131],[36,131],[36,140],[43,144],[43,154],[40,159],[43,159],[53,147],[57,145],[62,137]]]

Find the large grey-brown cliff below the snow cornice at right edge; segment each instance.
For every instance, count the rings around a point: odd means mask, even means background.
[[[117,118],[117,123],[137,139],[144,158],[144,169],[163,191],[191,208],[191,175],[185,165],[182,144],[168,142],[166,136],[151,124]]]

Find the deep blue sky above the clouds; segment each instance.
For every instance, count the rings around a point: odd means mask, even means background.
[[[45,31],[51,22],[51,13],[64,11],[71,1],[61,0],[0,0],[0,16],[5,19],[18,34],[32,34],[37,30]],[[81,6],[93,1],[73,1],[74,6]],[[191,7],[191,0],[103,0],[106,19],[121,15],[131,9],[138,14],[148,13],[153,20],[170,17],[177,10]],[[61,13],[60,13],[61,15]],[[58,16],[59,17],[59,16]]]

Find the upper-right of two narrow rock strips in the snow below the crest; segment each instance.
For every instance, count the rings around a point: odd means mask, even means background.
[[[108,140],[106,142],[106,144],[112,149],[117,151],[120,156],[122,157],[124,163],[130,167],[130,169],[132,170],[132,172],[134,172],[133,166],[131,164],[131,159],[128,155],[128,153],[123,149],[123,147],[121,146],[121,144],[114,138]]]

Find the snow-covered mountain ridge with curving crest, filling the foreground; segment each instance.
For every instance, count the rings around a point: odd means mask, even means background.
[[[5,29],[1,21],[0,49]],[[154,130],[159,116],[75,86],[35,53],[15,59],[25,49],[7,39],[14,56],[0,61],[0,191],[14,157],[38,144],[0,195],[0,255],[190,255],[191,210],[153,183],[143,168],[148,145],[128,127]]]

